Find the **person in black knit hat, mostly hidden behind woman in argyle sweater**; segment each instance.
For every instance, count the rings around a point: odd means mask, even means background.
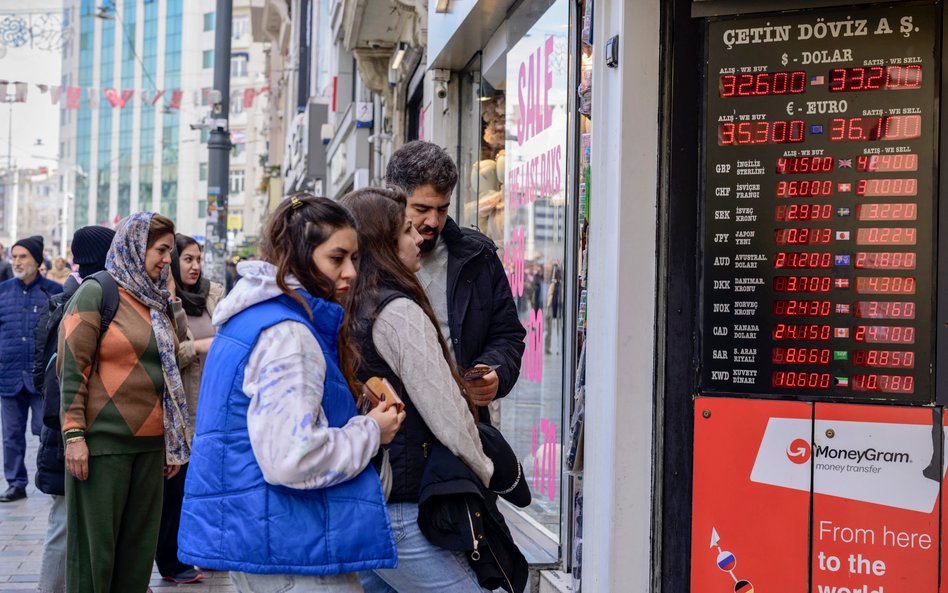
[[[43,429],[36,453],[36,488],[53,499],[46,522],[39,593],[62,593],[66,587],[66,465],[63,461],[66,453],[59,418],[59,378],[54,360],[59,342],[59,321],[65,304],[78,290],[82,279],[105,269],[105,256],[114,236],[115,231],[102,226],[82,227],[73,233],[72,252],[79,271],[66,278],[63,292],[49,299],[49,306],[36,322],[33,384],[43,395]]]

